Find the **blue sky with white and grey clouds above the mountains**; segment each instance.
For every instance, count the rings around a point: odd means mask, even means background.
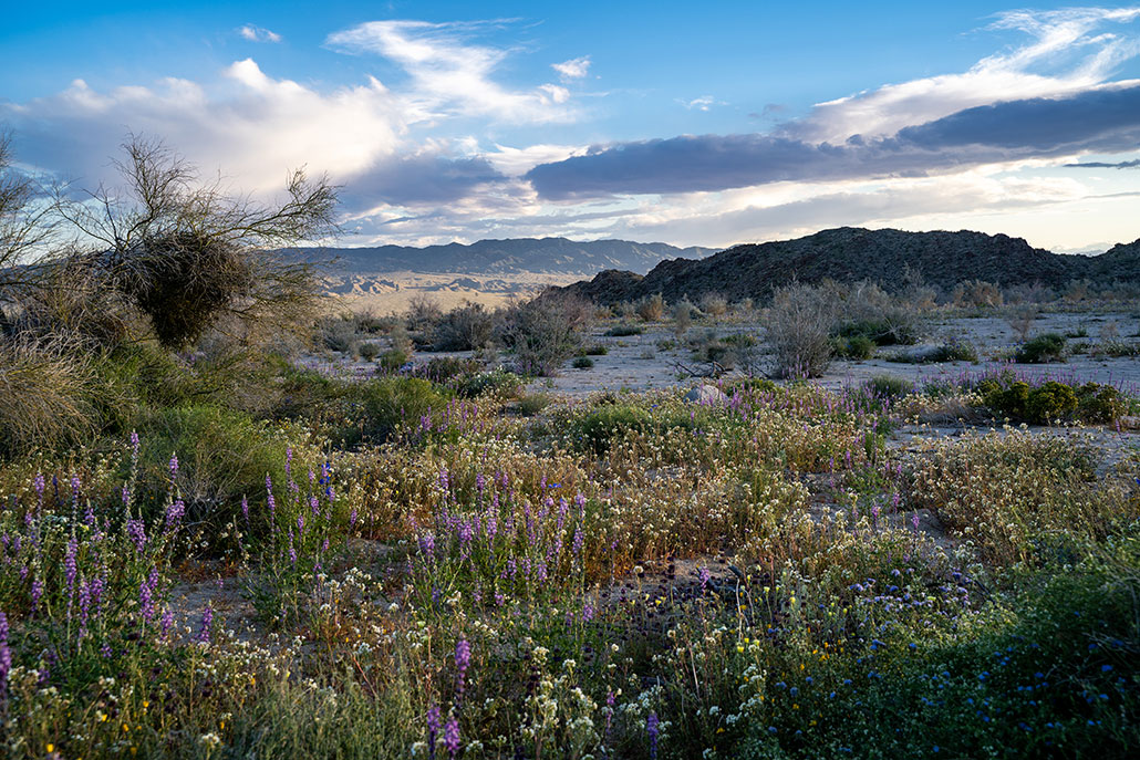
[[[111,5],[6,10],[22,170],[113,188],[131,134],[267,201],[304,166],[340,245],[1140,238],[1140,7]]]

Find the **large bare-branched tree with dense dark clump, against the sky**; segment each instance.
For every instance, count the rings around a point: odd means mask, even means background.
[[[258,328],[311,324],[319,287],[314,265],[282,251],[335,229],[336,191],[294,171],[286,198],[263,205],[227,196],[220,180],[162,142],[132,138],[116,166],[123,187],[99,187],[87,203],[56,198],[58,216],[99,255],[84,256],[150,322],[162,345],[185,348],[223,314]]]

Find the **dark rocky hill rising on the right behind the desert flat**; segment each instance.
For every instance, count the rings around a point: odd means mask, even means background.
[[[1089,256],[1034,248],[1008,235],[839,227],[793,240],[738,245],[697,261],[662,261],[644,276],[603,271],[563,289],[603,304],[656,293],[669,301],[686,295],[695,300],[709,292],[731,300],[765,300],[792,281],[872,280],[899,289],[909,271],[942,289],[974,279],[1002,287],[1033,283],[1061,287],[1073,279],[1140,284],[1140,240]]]

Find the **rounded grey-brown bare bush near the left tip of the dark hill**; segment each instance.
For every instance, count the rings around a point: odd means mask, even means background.
[[[500,313],[499,340],[514,351],[522,374],[554,375],[581,346],[589,326],[589,302],[565,293],[544,293]]]

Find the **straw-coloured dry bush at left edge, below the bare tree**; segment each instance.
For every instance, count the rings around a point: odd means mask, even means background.
[[[0,451],[54,447],[96,427],[88,356],[63,338],[0,338]]]

